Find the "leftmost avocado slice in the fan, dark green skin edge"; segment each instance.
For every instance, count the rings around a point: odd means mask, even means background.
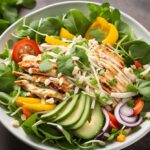
[[[50,112],[42,115],[41,119],[50,121],[54,116],[57,116],[57,114],[67,105],[68,101],[69,99],[61,102],[59,105],[56,106],[54,110],[51,110]]]

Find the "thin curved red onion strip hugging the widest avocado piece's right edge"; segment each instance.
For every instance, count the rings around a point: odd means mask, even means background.
[[[102,108],[102,111],[105,116],[105,125],[104,125],[103,129],[101,130],[101,132],[95,137],[95,140],[98,140],[109,127],[109,122],[110,122],[109,115],[104,108]]]

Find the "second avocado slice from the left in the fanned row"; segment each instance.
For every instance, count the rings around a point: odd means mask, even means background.
[[[66,105],[66,107],[64,107],[63,110],[60,111],[57,117],[54,118],[52,121],[57,122],[66,118],[75,109],[78,100],[79,100],[79,95],[75,95],[73,99]]]

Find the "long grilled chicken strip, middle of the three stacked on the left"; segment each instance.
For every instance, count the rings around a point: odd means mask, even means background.
[[[32,83],[42,83],[45,85],[46,88],[54,89],[62,94],[64,94],[70,89],[69,82],[67,82],[67,79],[65,79],[65,77],[61,77],[59,79],[59,78],[42,76],[42,75],[31,76],[29,74],[23,72],[16,72],[16,71],[14,71],[13,74],[18,76],[21,79],[31,81]]]

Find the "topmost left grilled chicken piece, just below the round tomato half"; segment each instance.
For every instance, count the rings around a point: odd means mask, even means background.
[[[56,77],[57,73],[57,65],[54,62],[51,62],[52,64],[52,69],[49,70],[48,72],[40,72],[39,70],[39,63],[41,62],[40,58],[34,58],[32,55],[23,55],[22,56],[22,61],[18,63],[19,67],[29,74],[38,74],[38,75],[44,75],[44,76],[52,76]]]

